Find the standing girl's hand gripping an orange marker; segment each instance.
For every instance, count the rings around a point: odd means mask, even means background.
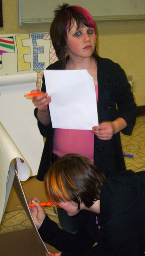
[[[38,90],[33,90],[31,93],[39,93]],[[48,96],[47,93],[44,93],[43,95],[39,95],[35,98],[33,98],[32,102],[35,107],[37,107],[41,112],[44,112],[47,110],[47,105],[51,102],[51,97]]]

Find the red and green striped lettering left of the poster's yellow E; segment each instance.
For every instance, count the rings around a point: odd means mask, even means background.
[[[4,52],[15,52],[13,36],[0,38],[0,68],[2,68],[2,54]]]

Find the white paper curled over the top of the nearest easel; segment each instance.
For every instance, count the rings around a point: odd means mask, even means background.
[[[13,164],[13,159],[16,158],[19,179],[25,181],[30,176],[30,169],[26,162],[20,164],[20,159],[24,159],[19,149],[15,146],[9,134],[6,132],[0,122],[0,223],[5,211],[10,190],[7,184],[11,184],[9,169]],[[11,172],[12,174],[12,172]],[[8,178],[9,177],[9,178]],[[9,182],[8,182],[9,181]],[[6,201],[5,201],[6,200]]]

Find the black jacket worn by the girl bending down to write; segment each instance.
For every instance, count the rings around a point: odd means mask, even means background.
[[[75,234],[46,216],[38,230],[42,240],[62,251],[61,256],[140,256],[145,252],[145,171],[106,178],[100,214],[89,213]]]

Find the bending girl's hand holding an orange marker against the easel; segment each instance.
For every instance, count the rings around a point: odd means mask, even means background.
[[[29,209],[31,211],[32,218],[34,220],[34,223],[37,227],[37,229],[40,228],[40,226],[43,223],[43,220],[45,219],[45,212],[43,210],[43,207],[39,204],[40,200],[38,198],[31,198],[28,201],[28,204],[34,204],[36,207],[29,206]]]

